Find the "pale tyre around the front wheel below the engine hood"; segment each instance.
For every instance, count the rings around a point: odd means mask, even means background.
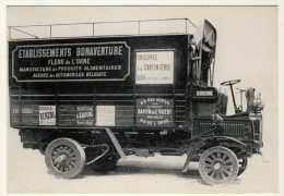
[[[209,175],[209,173],[206,173],[204,164],[205,164],[206,159],[210,158],[210,156],[212,154],[221,154],[221,158],[223,157],[223,155],[226,155],[228,157],[228,159],[230,159],[232,172],[228,176],[226,176],[226,179],[214,180],[215,174],[213,175],[213,177],[211,177]],[[202,180],[206,184],[210,184],[210,185],[227,184],[227,183],[234,181],[238,174],[238,169],[239,169],[239,163],[238,163],[238,159],[237,159],[236,155],[230,149],[222,147],[222,146],[212,147],[212,148],[205,150],[201,155],[200,160],[199,160],[199,173],[200,173]]]

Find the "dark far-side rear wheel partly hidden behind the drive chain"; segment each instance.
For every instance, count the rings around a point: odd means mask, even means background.
[[[115,155],[109,155],[102,157],[94,163],[90,164],[90,167],[95,171],[110,171],[116,169],[117,162],[118,158]]]

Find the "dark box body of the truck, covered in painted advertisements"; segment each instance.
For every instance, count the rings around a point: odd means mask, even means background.
[[[11,126],[186,130],[189,38],[10,41]]]

